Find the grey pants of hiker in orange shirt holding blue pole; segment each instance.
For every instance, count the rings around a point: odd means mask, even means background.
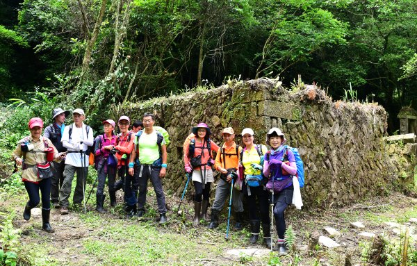
[[[213,206],[211,206],[211,209],[221,211],[224,202],[229,197],[230,194],[230,186],[231,183],[227,183],[222,178],[219,178],[217,188],[215,189],[215,197]],[[243,203],[242,203],[243,194],[240,193],[239,190],[236,190],[236,188],[233,188],[233,195],[231,197],[233,201],[233,208],[236,213],[243,212]]]

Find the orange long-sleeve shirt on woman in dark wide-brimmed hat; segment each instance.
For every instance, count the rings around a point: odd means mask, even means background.
[[[219,146],[218,144],[215,144],[215,142],[213,142],[213,140],[210,140],[210,146],[211,146],[211,151],[208,151],[208,145],[207,145],[207,141],[206,140],[200,140],[199,138],[196,138],[194,134],[190,134],[188,135],[188,138],[186,139],[186,141],[183,144],[183,151],[184,151],[184,164],[185,165],[190,165],[190,154],[189,154],[189,147],[190,147],[190,140],[195,138],[195,149],[194,149],[194,156],[193,157],[197,157],[199,155],[202,156],[202,169],[210,169],[211,167],[206,165],[208,162],[208,159],[211,158],[211,152],[212,151],[218,151],[219,150]],[[195,170],[199,170],[201,167],[195,167]]]

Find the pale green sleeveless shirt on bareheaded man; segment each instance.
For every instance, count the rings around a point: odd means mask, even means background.
[[[145,130],[142,132],[139,138],[139,161],[142,165],[151,165],[154,161],[158,160],[159,147],[158,147],[158,135],[156,130],[147,134]],[[161,145],[165,145],[165,140],[162,140]]]

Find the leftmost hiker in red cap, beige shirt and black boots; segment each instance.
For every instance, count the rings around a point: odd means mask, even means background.
[[[31,209],[38,206],[40,194],[42,197],[42,229],[53,233],[54,229],[49,224],[51,213],[51,160],[59,161],[65,158],[65,152],[58,153],[51,140],[42,137],[43,121],[39,117],[33,117],[28,123],[31,135],[19,140],[13,160],[16,165],[22,165],[22,181],[28,192],[29,201],[24,206],[23,217],[26,221],[31,219]],[[53,156],[51,156],[53,155]]]

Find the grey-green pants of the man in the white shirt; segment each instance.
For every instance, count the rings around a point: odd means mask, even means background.
[[[81,204],[83,202],[85,182],[87,181],[88,176],[88,167],[76,167],[74,165],[65,165],[64,182],[59,191],[59,205],[61,207],[68,207],[68,205],[70,205],[70,201],[68,201],[68,199],[70,199],[72,179],[74,179],[75,172],[76,185],[74,190],[74,196],[72,197],[72,202],[74,204]],[[81,175],[83,176],[83,178],[81,178]]]

